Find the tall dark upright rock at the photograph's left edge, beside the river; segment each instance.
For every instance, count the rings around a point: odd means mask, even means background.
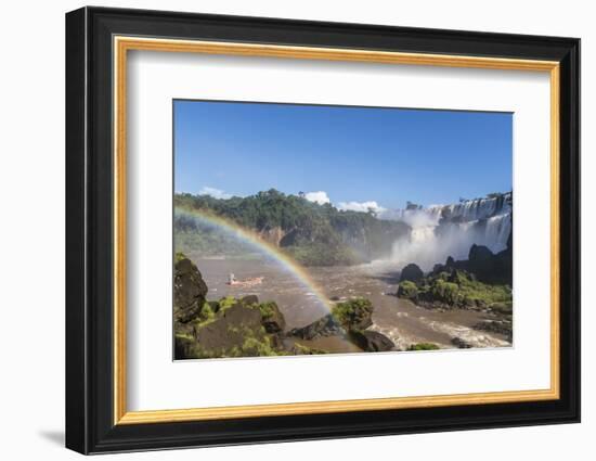
[[[194,262],[182,254],[177,255],[173,274],[174,320],[185,323],[199,317],[207,291],[207,284]]]

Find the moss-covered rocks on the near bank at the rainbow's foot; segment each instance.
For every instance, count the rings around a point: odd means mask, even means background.
[[[183,254],[174,265],[174,358],[260,357],[329,354],[299,340],[339,336],[362,351],[394,350],[387,336],[367,329],[374,307],[367,299],[337,303],[333,311],[309,325],[285,331],[273,302],[255,295],[207,300],[200,271]]]

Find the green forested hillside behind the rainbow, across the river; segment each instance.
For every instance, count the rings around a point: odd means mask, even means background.
[[[245,248],[232,235],[194,219],[192,210],[220,216],[258,232],[306,266],[353,265],[386,256],[411,228],[378,219],[374,212],[339,210],[275,189],[246,197],[174,195],[176,249],[204,255],[237,254]]]

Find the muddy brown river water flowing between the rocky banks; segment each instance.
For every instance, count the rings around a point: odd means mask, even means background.
[[[262,302],[274,300],[284,313],[286,330],[305,326],[327,313],[315,293],[277,261],[260,257],[203,258],[193,254],[190,257],[197,265],[209,287],[208,299],[255,294]],[[459,337],[474,347],[510,346],[503,335],[472,329],[472,325],[490,318],[487,312],[425,309],[398,298],[394,293],[399,273],[390,262],[309,267],[306,270],[329,299],[344,300],[355,296],[371,299],[375,307],[371,330],[385,334],[400,349],[415,343],[435,343],[441,348],[454,348],[454,337]],[[226,284],[230,273],[237,280],[263,277],[263,282],[250,287],[231,286]],[[300,343],[334,353],[359,351],[353,344],[337,336]]]

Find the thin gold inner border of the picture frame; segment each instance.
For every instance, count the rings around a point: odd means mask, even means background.
[[[114,165],[116,193],[114,202],[114,424],[145,424],[197,420],[219,420],[308,413],[370,411],[444,407],[452,405],[503,404],[553,400],[559,398],[559,63],[555,61],[514,60],[445,54],[402,53],[385,51],[306,48],[274,44],[231,43],[159,38],[114,37],[115,141]],[[428,65],[464,68],[532,71],[548,73],[550,78],[550,388],[495,393],[433,395],[354,400],[332,400],[299,404],[251,405],[215,408],[127,411],[126,407],[126,107],[127,53],[158,51],[248,55],[260,57],[306,59],[384,63],[389,65]]]

